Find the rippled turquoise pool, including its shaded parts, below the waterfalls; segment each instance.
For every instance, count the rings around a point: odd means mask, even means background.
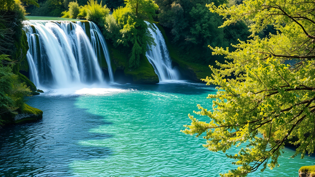
[[[0,130],[0,176],[219,176],[236,168],[223,153],[203,148],[203,138],[180,133],[198,103],[211,106],[206,97],[215,89],[197,83],[112,88],[30,97],[43,119]],[[293,153],[285,149],[280,167],[249,176],[298,176],[301,166],[315,164],[314,157],[289,158]]]

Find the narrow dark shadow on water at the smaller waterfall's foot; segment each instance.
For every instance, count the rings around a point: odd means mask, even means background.
[[[155,92],[164,92],[170,94],[186,94],[186,95],[200,95],[200,94],[210,94],[211,92],[216,92],[215,86],[206,85],[206,83],[192,83],[191,81],[186,82],[162,82],[150,85],[134,85],[126,84],[120,85],[119,88],[133,88],[137,90],[149,90]]]

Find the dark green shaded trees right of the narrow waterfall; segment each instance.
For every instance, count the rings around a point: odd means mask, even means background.
[[[178,49],[182,60],[199,64],[214,64],[215,60],[224,60],[223,57],[211,56],[211,46],[228,47],[230,43],[238,43],[237,39],[246,40],[249,36],[248,28],[244,23],[235,25],[236,28],[218,29],[223,23],[222,18],[211,13],[207,3],[219,5],[226,3],[212,0],[156,0],[159,5],[158,19],[162,26],[169,28],[171,40]],[[232,0],[229,4],[234,4]],[[231,35],[233,34],[233,35]],[[235,35],[236,34],[236,35]]]

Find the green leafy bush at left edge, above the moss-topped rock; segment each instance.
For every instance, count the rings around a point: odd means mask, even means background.
[[[24,96],[30,94],[25,83],[20,83],[12,73],[13,62],[7,55],[0,55],[0,118],[24,105]]]

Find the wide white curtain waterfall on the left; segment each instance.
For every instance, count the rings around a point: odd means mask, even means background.
[[[30,48],[26,55],[30,79],[36,86],[67,87],[77,83],[103,82],[98,62],[100,50],[104,51],[113,82],[106,43],[94,23],[89,22],[93,26],[91,40],[84,23],[47,20],[27,20],[24,23]],[[103,41],[99,43],[100,38]]]

